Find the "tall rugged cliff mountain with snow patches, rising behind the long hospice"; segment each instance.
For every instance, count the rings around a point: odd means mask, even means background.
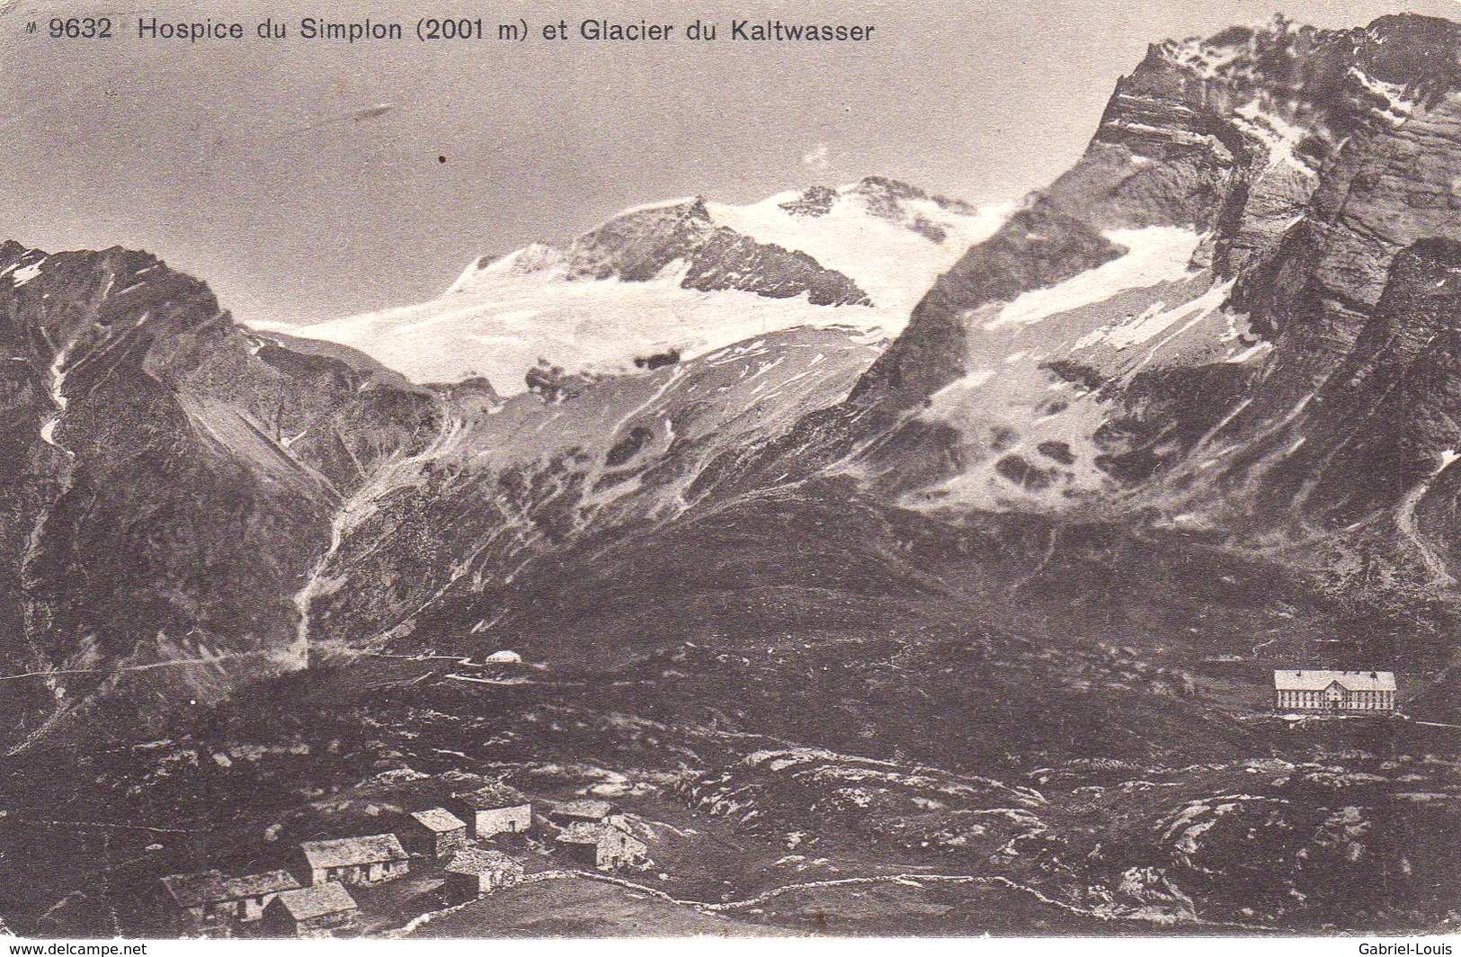
[[[1458,48],[1416,16],[1153,47],[1086,156],[853,392],[904,435],[938,424],[918,501],[1156,508],[1248,541],[1410,526],[1417,489],[1439,514],[1457,437],[1397,419],[1449,403]]]

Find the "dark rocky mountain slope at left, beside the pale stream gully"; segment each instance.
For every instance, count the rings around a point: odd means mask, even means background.
[[[424,447],[438,400],[254,338],[142,253],[10,243],[0,273],[0,653],[32,675],[7,681],[7,747],[117,684],[212,698],[301,665],[291,593],[330,514]]]

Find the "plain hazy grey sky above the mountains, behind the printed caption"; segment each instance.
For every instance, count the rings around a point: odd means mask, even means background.
[[[409,37],[438,10],[522,19],[530,38],[136,38],[140,16],[251,34],[264,16],[294,32],[302,16],[367,15]],[[647,202],[752,202],[871,174],[1002,202],[1075,161],[1148,42],[1278,10],[1318,26],[1461,19],[1458,0],[0,0],[0,238],[146,248],[241,320],[310,323],[432,298],[481,254]],[[58,13],[110,13],[118,37],[51,39]],[[698,18],[722,39],[541,38],[590,16],[681,31]],[[732,18],[877,29],[809,50],[728,42]]]

